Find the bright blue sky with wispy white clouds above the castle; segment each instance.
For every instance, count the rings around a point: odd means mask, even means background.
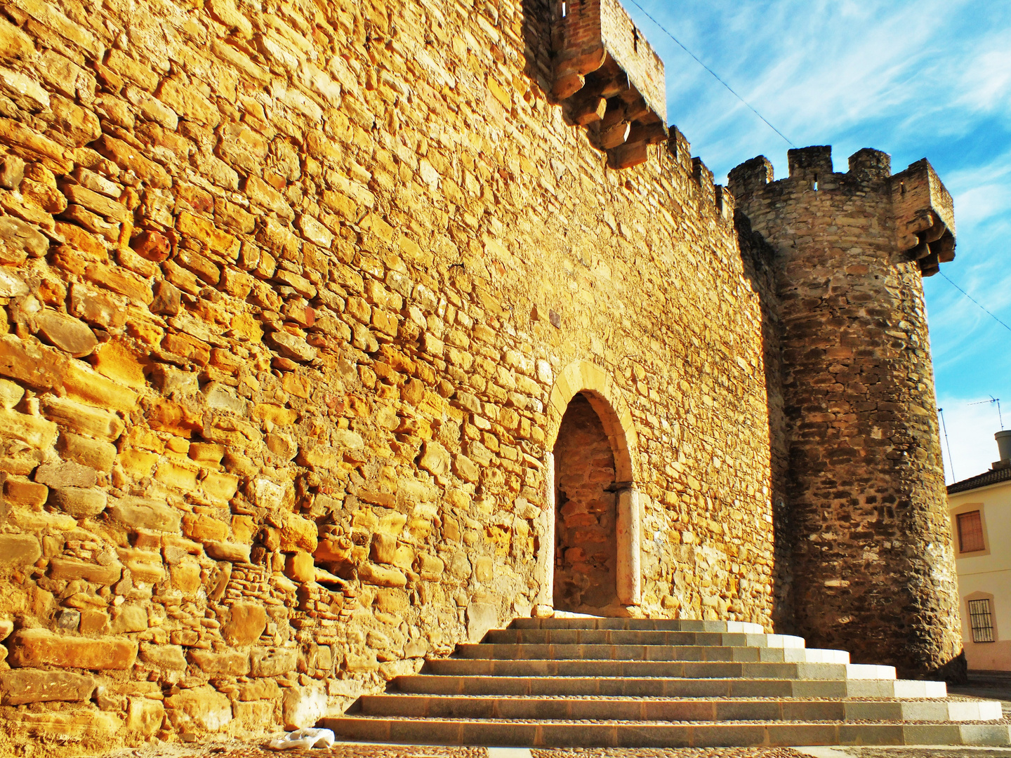
[[[637,2],[796,146],[831,145],[836,171],[860,148],[895,172],[929,159],[955,203],[941,271],[1011,324],[1011,1]],[[785,176],[790,146],[623,4],[663,59],[670,123],[717,181],[757,155]],[[940,275],[924,289],[951,482],[997,458],[996,406],[971,403],[1001,398],[1011,429],[1011,330]]]

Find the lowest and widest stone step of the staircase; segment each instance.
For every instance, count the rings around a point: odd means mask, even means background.
[[[342,739],[416,745],[515,747],[748,747],[792,745],[1011,744],[1006,724],[847,724],[710,722],[510,722],[493,719],[395,719],[352,716],[320,719]]]

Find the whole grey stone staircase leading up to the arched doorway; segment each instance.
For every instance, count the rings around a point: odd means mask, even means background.
[[[741,622],[517,619],[390,686],[319,726],[473,746],[1011,745],[1000,702]]]

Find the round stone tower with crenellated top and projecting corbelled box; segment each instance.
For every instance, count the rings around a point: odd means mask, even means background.
[[[730,173],[775,250],[798,633],[853,662],[964,676],[921,277],[954,257],[951,198],[924,160],[861,150]]]

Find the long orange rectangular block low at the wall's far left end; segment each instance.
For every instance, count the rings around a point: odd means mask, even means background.
[[[7,643],[14,667],[57,666],[95,670],[127,669],[136,659],[136,643],[121,638],[63,637],[41,629],[17,632]]]

